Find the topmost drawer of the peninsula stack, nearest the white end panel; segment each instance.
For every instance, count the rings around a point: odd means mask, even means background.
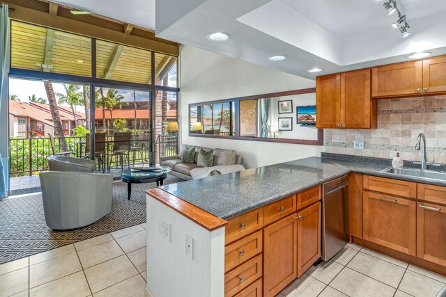
[[[229,244],[263,227],[263,209],[254,209],[228,220],[225,228],[225,243]]]

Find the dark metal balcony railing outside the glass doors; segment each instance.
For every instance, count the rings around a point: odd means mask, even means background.
[[[61,139],[54,137],[54,150],[61,151]],[[65,137],[66,150],[72,152],[71,156],[78,158],[88,158],[89,150],[86,150],[86,138],[82,137]],[[131,145],[128,149],[127,163],[148,163],[151,160],[151,141],[149,139],[138,139],[138,135],[132,135]],[[159,163],[158,156],[171,156],[177,154],[178,136],[176,134],[160,135],[155,145],[155,162]],[[37,175],[40,171],[48,170],[47,158],[52,156],[52,147],[49,138],[10,138],[10,177]],[[101,156],[105,156],[107,170],[109,167],[120,168],[120,159],[113,154],[115,145],[114,137],[107,136],[105,141],[105,152]],[[99,166],[98,166],[99,168]]]

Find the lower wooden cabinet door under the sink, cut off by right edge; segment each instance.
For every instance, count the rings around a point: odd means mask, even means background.
[[[417,207],[417,257],[446,266],[446,207],[420,202]]]

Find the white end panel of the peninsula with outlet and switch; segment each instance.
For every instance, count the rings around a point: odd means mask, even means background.
[[[158,218],[170,224],[170,241],[158,234]],[[147,196],[147,289],[153,297],[221,297],[224,294],[224,227],[209,232]],[[185,236],[192,236],[193,259]]]

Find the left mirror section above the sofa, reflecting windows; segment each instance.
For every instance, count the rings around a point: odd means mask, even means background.
[[[235,136],[235,111],[233,101],[190,106],[190,134]]]

